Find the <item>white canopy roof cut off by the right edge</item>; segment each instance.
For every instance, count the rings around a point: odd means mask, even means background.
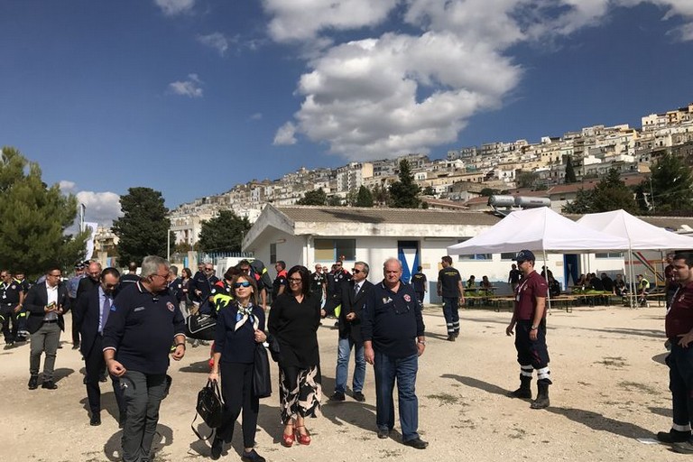
[[[693,237],[653,226],[625,210],[591,213],[577,220],[582,226],[628,240],[631,250],[693,249]]]

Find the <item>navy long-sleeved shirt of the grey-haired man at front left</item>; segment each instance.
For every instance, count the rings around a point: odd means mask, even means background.
[[[175,298],[168,291],[154,294],[135,282],[113,301],[103,347],[115,349],[115,359],[125,369],[164,374],[174,337],[184,332],[185,320]]]

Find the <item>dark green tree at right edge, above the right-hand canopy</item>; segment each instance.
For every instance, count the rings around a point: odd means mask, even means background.
[[[651,185],[643,184],[643,189],[651,189],[651,205],[657,213],[689,211],[693,208],[693,177],[690,168],[680,159],[666,154],[651,166]]]

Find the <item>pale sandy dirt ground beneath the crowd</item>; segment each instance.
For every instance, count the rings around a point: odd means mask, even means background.
[[[428,347],[420,358],[417,380],[420,435],[430,442],[420,451],[401,444],[399,423],[393,438],[377,439],[371,366],[366,401],[347,396],[328,402],[333,392],[337,330],[331,322],[319,329],[323,371],[323,417],[309,420],[310,446],[283,448],[279,443],[278,393],[261,401],[257,451],[270,461],[361,461],[391,458],[420,461],[457,460],[677,460],[654,438],[670,428],[668,368],[664,365],[664,309],[653,306],[554,309],[549,317],[551,406],[535,411],[529,402],[505,396],[518,384],[512,337],[506,337],[508,311],[461,310],[457,342],[445,340],[439,306],[425,311]],[[66,317],[69,324],[70,317]],[[69,331],[69,330],[68,330]],[[55,391],[30,391],[29,345],[0,350],[3,444],[0,460],[115,461],[121,432],[115,420],[110,383],[104,392],[103,424],[88,425],[83,362],[63,333],[58,352]],[[196,396],[207,381],[208,347],[188,348],[171,365],[171,395],[162,402],[157,461],[202,460],[208,444],[190,430]],[[274,366],[274,365],[273,365]],[[353,369],[353,365],[351,365]],[[275,370],[273,372],[276,372]],[[277,375],[274,374],[274,377]],[[351,375],[349,376],[351,380]],[[534,387],[534,385],[533,385]],[[534,390],[536,390],[534,388]],[[199,420],[198,420],[199,421]],[[240,426],[233,447],[222,459],[240,458]]]

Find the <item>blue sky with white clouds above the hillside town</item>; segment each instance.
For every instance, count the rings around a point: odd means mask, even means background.
[[[117,215],[693,102],[690,0],[0,0],[0,146]]]

